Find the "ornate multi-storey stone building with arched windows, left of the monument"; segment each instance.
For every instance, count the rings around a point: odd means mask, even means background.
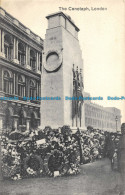
[[[42,50],[43,40],[0,8],[0,127],[40,124],[40,102],[23,97],[40,96]]]

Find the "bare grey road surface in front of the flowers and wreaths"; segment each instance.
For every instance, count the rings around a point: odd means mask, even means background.
[[[0,195],[118,195],[121,179],[109,159],[81,165],[76,176],[0,180]]]

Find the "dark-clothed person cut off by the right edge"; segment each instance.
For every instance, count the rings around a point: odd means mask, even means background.
[[[121,125],[121,133],[118,145],[118,166],[122,180],[120,195],[125,195],[125,123]]]

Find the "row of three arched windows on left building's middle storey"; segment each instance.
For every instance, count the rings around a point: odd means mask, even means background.
[[[4,92],[6,94],[13,94],[14,79],[7,70],[4,71],[3,82]],[[37,89],[36,82],[33,79],[30,79],[28,88],[30,97],[39,96],[39,89]],[[18,96],[20,97],[26,96],[26,80],[23,75],[18,76]]]

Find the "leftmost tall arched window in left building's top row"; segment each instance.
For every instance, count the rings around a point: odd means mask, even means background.
[[[11,35],[6,34],[4,36],[4,53],[5,53],[5,57],[9,60],[12,59],[12,49],[13,49],[13,43],[12,43]]]

